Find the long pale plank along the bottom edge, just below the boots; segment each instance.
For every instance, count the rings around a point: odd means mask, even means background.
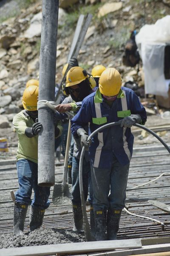
[[[87,253],[103,250],[141,248],[141,239],[113,240],[113,241],[95,241],[80,242],[70,244],[49,244],[39,246],[27,246],[19,248],[0,249],[2,256],[45,256],[61,253]]]

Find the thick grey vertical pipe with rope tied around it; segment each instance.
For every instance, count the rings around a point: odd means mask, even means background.
[[[54,101],[59,0],[42,0],[39,100]],[[54,175],[54,112],[39,109],[42,132],[38,137],[38,185],[49,187]]]

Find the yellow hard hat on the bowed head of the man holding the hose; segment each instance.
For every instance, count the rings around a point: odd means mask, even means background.
[[[114,96],[119,93],[122,78],[115,68],[106,68],[99,78],[99,91],[106,96]]]

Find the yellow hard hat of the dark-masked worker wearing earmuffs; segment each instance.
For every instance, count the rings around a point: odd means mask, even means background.
[[[77,85],[88,77],[87,72],[83,68],[73,67],[67,73],[65,87]]]

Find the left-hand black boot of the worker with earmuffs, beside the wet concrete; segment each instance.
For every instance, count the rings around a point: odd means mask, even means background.
[[[82,231],[83,230],[83,216],[82,216],[82,206],[81,205],[73,205],[73,219],[74,219],[73,231]]]

